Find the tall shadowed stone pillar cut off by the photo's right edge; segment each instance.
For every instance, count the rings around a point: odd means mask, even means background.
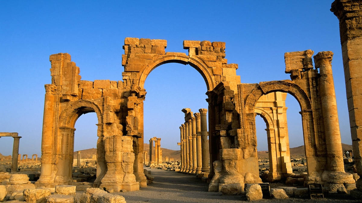
[[[340,38],[346,82],[349,123],[351,128],[354,162],[362,177],[362,2],[336,0],[331,11],[340,21]],[[362,190],[362,179],[356,182]]]

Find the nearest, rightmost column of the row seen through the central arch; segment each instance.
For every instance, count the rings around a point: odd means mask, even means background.
[[[199,109],[200,121],[201,121],[201,156],[202,156],[202,173],[210,173],[210,154],[209,154],[209,142],[207,141],[207,109]]]

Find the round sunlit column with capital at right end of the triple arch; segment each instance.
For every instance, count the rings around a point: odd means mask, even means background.
[[[332,75],[332,56],[331,51],[319,52],[314,56],[314,63],[320,71],[320,97],[325,143],[327,145],[327,168],[331,171],[344,172],[341,134]]]

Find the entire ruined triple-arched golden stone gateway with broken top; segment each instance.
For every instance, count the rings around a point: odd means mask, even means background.
[[[75,122],[84,113],[96,112],[98,165],[93,186],[114,191],[146,186],[144,81],[153,69],[169,62],[191,65],[206,82],[209,191],[240,194],[244,183],[261,182],[255,105],[262,95],[276,91],[290,93],[301,106],[307,182],[340,183],[341,177],[344,182],[354,182],[352,174],[344,173],[343,168],[331,52],[318,53],[315,68],[313,51],[286,53],[286,73],[291,74],[291,80],[244,84],[236,75],[237,64],[227,64],[224,42],[185,40],[183,46],[188,55],[165,52],[166,40],[126,38],[123,81],[82,81],[69,54],[51,55],[52,83],[45,85],[42,168],[36,185],[54,187],[72,181]],[[290,158],[284,153],[281,159],[287,163]]]

